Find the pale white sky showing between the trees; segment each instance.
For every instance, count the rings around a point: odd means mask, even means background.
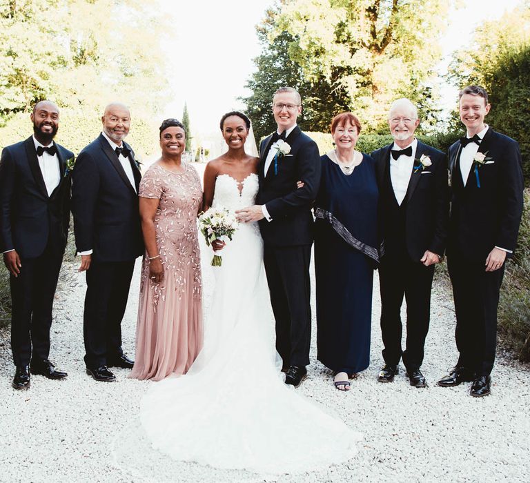
[[[273,0],[161,1],[175,19],[175,39],[167,43],[174,93],[162,115],[180,118],[186,101],[192,132],[216,132],[224,112],[243,108],[237,97],[248,95],[244,85],[254,70],[252,59],[261,50],[255,26]],[[446,61],[440,63],[440,72],[445,70],[451,52],[466,45],[480,22],[496,19],[520,3],[461,0],[458,13],[449,15],[449,28],[442,42]],[[444,107],[451,108],[456,89],[445,86],[442,95]]]

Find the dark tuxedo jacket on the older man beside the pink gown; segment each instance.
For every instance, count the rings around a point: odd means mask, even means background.
[[[141,173],[131,150],[138,191]],[[99,262],[125,262],[144,251],[138,195],[116,153],[101,134],[79,153],[72,171],[72,213],[79,252],[93,250]]]

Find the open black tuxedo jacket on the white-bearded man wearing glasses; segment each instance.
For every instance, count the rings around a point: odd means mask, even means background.
[[[375,159],[377,184],[382,193],[385,177],[390,175],[390,151],[393,144],[372,152]],[[431,166],[415,170],[422,155],[431,158]],[[386,245],[385,226],[389,225],[389,210],[380,196],[379,221],[380,234],[385,244],[385,251],[391,252]],[[425,250],[437,255],[444,254],[447,226],[449,221],[449,190],[447,186],[447,158],[442,151],[427,146],[418,140],[413,172],[409,181],[404,202],[405,213],[405,246],[411,259],[419,262]]]

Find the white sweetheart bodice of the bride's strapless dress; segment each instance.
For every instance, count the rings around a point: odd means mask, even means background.
[[[219,175],[215,180],[212,206],[224,206],[233,211],[251,206],[254,204],[258,186],[255,173],[251,173],[241,182],[230,175]]]

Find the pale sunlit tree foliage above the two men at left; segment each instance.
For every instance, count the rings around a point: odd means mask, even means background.
[[[14,123],[1,144],[21,139],[17,126],[31,132],[20,116],[41,99],[61,109],[58,137],[81,146],[90,137],[76,142],[79,133],[99,131],[110,101],[130,106],[132,133],[135,120],[152,119],[166,92],[155,27],[166,28],[155,0],[0,0],[0,126]]]

